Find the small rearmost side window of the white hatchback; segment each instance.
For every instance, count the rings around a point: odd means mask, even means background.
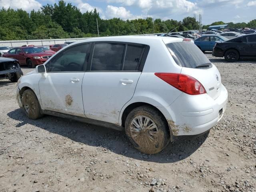
[[[137,71],[140,65],[140,59],[143,53],[144,46],[127,45],[124,58],[125,71]]]

